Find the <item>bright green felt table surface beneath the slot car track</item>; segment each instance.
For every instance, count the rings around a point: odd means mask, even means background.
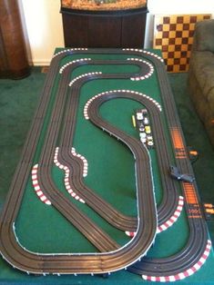
[[[58,52],[59,49],[56,50]],[[74,54],[66,56],[61,61],[61,66],[71,60],[85,57],[84,54]],[[92,59],[126,59],[127,55],[120,54],[87,54]],[[89,72],[103,73],[136,73],[138,66],[135,64],[127,65],[92,65],[87,64],[76,68],[71,74],[71,80],[79,74]],[[46,120],[39,138],[34,157],[34,164],[39,160],[42,146],[46,138],[46,127],[49,123],[53,105],[56,100],[56,87],[58,86],[60,75],[56,76],[55,83],[52,87],[52,96],[48,104],[48,112]],[[98,129],[92,123],[85,120],[83,116],[84,106],[87,100],[97,93],[114,89],[128,89],[141,93],[145,93],[158,103],[162,103],[159,95],[159,87],[156,71],[146,81],[130,82],[130,80],[103,80],[97,79],[84,84],[80,90],[80,99],[78,104],[76,132],[73,145],[76,152],[84,155],[88,162],[88,173],[84,179],[86,185],[93,189],[104,200],[112,204],[117,210],[129,215],[137,216],[137,197],[135,184],[135,160],[127,146],[119,143],[115,138]],[[143,105],[132,100],[115,99],[103,104],[100,109],[101,115],[117,128],[138,138],[138,131],[133,127],[131,116]],[[168,125],[163,111],[163,122],[166,137],[168,139]],[[152,126],[151,126],[152,127]],[[172,145],[168,140],[168,151],[173,155]],[[158,170],[158,160],[155,148],[151,149],[150,157],[152,162],[152,171],[155,184],[155,195],[157,203],[162,198],[162,185],[160,182],[160,174]],[[63,192],[68,199],[76,203],[76,205],[84,211],[92,221],[106,231],[121,246],[130,240],[123,231],[115,229],[113,226],[102,219],[95,211],[90,209],[87,204],[75,201],[66,192],[63,184],[64,171],[53,165],[53,180],[58,189]],[[179,184],[178,184],[178,191]],[[97,249],[87,241],[79,231],[76,230],[68,221],[66,221],[52,206],[42,203],[37,197],[33,189],[31,177],[25,187],[25,194],[22,206],[18,212],[15,221],[15,234],[22,246],[28,251],[40,253],[67,253],[67,252],[97,252]],[[189,238],[189,224],[187,215],[183,210],[178,221],[167,231],[163,231],[157,235],[154,246],[148,251],[148,256],[153,258],[163,258],[171,256],[180,251]],[[203,267],[190,276],[186,280],[178,281],[178,283],[189,284],[211,284],[214,280],[214,256],[213,251],[209,254],[209,259]],[[14,270],[5,260],[0,260],[0,284],[4,282],[10,283],[32,283],[32,284],[138,284],[146,283],[138,275],[120,270],[112,273],[107,279],[100,276],[91,277],[89,275],[79,276],[46,276],[36,277],[27,275],[18,270]]]

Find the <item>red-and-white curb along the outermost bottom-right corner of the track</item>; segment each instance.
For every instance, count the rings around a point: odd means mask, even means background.
[[[156,282],[173,282],[173,281],[178,281],[178,280],[183,280],[190,275],[194,274],[196,271],[198,271],[201,266],[205,263],[205,261],[209,257],[209,252],[211,250],[211,241],[208,240],[206,250],[202,254],[201,258],[199,261],[193,265],[189,270],[185,270],[183,272],[180,272],[176,275],[170,275],[170,276],[148,276],[148,275],[142,275],[142,278],[144,280],[149,280],[149,281],[156,281]]]

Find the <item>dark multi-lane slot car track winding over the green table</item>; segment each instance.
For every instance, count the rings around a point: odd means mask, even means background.
[[[114,98],[127,98],[136,100],[144,104],[148,108],[152,120],[152,128],[154,129],[154,139],[158,153],[158,164],[161,166],[161,180],[164,185],[163,200],[158,207],[158,223],[168,220],[168,217],[175,211],[178,203],[178,192],[176,191],[176,183],[169,178],[168,165],[171,158],[168,155],[167,145],[165,143],[164,130],[161,123],[160,111],[157,105],[151,103],[147,98],[144,98],[138,93],[129,91],[113,91],[97,97],[88,106],[89,120],[96,124],[97,127],[113,134],[116,139],[127,144],[127,147],[133,152],[136,160],[136,180],[137,180],[137,202],[138,202],[138,219],[127,217],[116,211],[106,201],[96,195],[93,190],[89,189],[82,180],[83,166],[77,157],[71,155],[70,149],[73,145],[73,137],[76,126],[76,110],[78,105],[78,97],[81,86],[87,81],[97,80],[98,78],[122,78],[129,79],[133,74],[87,74],[85,77],[80,77],[76,80],[71,88],[69,84],[69,74],[81,64],[138,64],[141,69],[139,74],[142,75],[147,71],[148,66],[142,63],[128,63],[127,61],[76,61],[75,64],[68,65],[62,73],[62,78],[59,81],[58,90],[56,93],[55,108],[49,120],[46,130],[46,140],[43,151],[40,155],[38,168],[38,181],[46,194],[48,200],[64,217],[76,226],[87,239],[92,242],[101,253],[87,254],[34,254],[25,251],[16,241],[15,237],[15,218],[20,207],[22,196],[25,190],[25,184],[28,175],[31,171],[36,145],[39,140],[39,135],[42,130],[42,125],[45,120],[48,102],[51,96],[51,87],[58,75],[59,62],[62,58],[69,54],[126,54],[142,56],[142,51],[138,50],[67,50],[64,53],[56,54],[54,57],[50,72],[46,77],[46,84],[42,93],[40,105],[32,124],[31,131],[27,137],[22,160],[19,162],[15,177],[12,182],[10,192],[5,202],[5,210],[1,217],[0,231],[0,250],[9,263],[13,264],[19,270],[25,270],[30,273],[104,273],[115,271],[133,264],[135,261],[143,257],[152,242],[155,239],[157,231],[157,212],[154,200],[154,186],[152,184],[151,166],[149,161],[148,150],[138,140],[128,136],[114,126],[103,120],[99,113],[99,106],[107,100]],[[158,74],[159,88],[162,95],[163,107],[168,118],[169,130],[177,128],[178,132],[182,132],[178,123],[178,115],[176,113],[175,104],[170,95],[167,76],[163,73],[163,64],[157,57],[151,54],[143,54],[143,58],[151,62]],[[68,94],[68,99],[66,99]],[[66,111],[65,111],[66,109]],[[69,182],[75,192],[87,202],[94,211],[113,224],[120,230],[137,231],[136,236],[127,243],[126,246],[119,248],[116,241],[113,241],[106,232],[102,231],[97,225],[92,222],[85,214],[78,210],[76,205],[66,199],[64,195],[56,189],[55,184],[51,179],[51,166],[56,150],[57,135],[60,125],[63,124],[59,143],[59,162],[70,170]],[[173,141],[173,139],[172,139]],[[173,143],[173,142],[172,142]],[[175,146],[175,145],[174,145]],[[175,151],[177,152],[177,150]],[[183,150],[185,153],[185,150]],[[175,153],[176,157],[178,153]],[[192,173],[189,158],[184,155],[182,158],[177,158],[177,164],[182,172]],[[75,177],[75,179],[74,179]],[[192,183],[193,191],[197,198],[195,204],[189,202],[187,184],[182,184],[186,212],[189,218],[189,241],[186,247],[178,252],[178,254],[168,257],[167,259],[148,259],[143,258],[128,270],[137,272],[146,276],[174,276],[180,272],[188,270],[189,267],[198,262],[203,252],[206,250],[208,243],[208,231],[203,215],[200,211],[199,195],[197,185]],[[194,208],[194,209],[193,209]],[[195,212],[197,210],[197,217]],[[93,234],[92,234],[93,232]],[[199,244],[201,245],[199,248]],[[149,279],[149,278],[148,278]]]

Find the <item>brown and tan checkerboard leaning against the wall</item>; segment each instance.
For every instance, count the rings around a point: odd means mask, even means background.
[[[171,73],[187,72],[195,24],[211,15],[155,15],[153,47],[162,56]]]

